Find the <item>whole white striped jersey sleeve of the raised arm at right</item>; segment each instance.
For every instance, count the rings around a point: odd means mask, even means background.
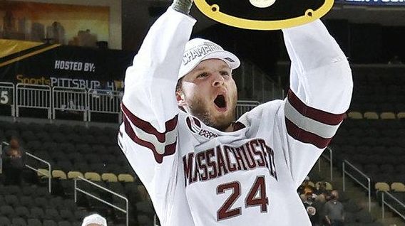
[[[296,187],[342,123],[352,98],[346,56],[320,21],[283,30],[290,87],[279,115],[284,156]]]

